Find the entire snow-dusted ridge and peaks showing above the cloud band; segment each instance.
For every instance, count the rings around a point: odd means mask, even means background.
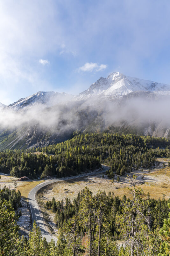
[[[136,77],[125,76],[119,72],[111,73],[107,78],[101,76],[89,89],[79,95],[69,95],[59,92],[37,92],[24,99],[20,99],[7,108],[14,110],[28,109],[33,106],[51,107],[56,104],[64,104],[68,101],[80,101],[90,99],[114,100],[131,92],[144,91],[158,94],[170,94],[170,85],[143,80]],[[4,108],[1,106],[0,108]]]

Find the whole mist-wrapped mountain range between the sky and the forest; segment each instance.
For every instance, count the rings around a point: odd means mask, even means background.
[[[76,130],[169,138],[169,108],[169,85],[114,72],[79,95],[37,92],[0,104],[0,149],[44,147]]]

